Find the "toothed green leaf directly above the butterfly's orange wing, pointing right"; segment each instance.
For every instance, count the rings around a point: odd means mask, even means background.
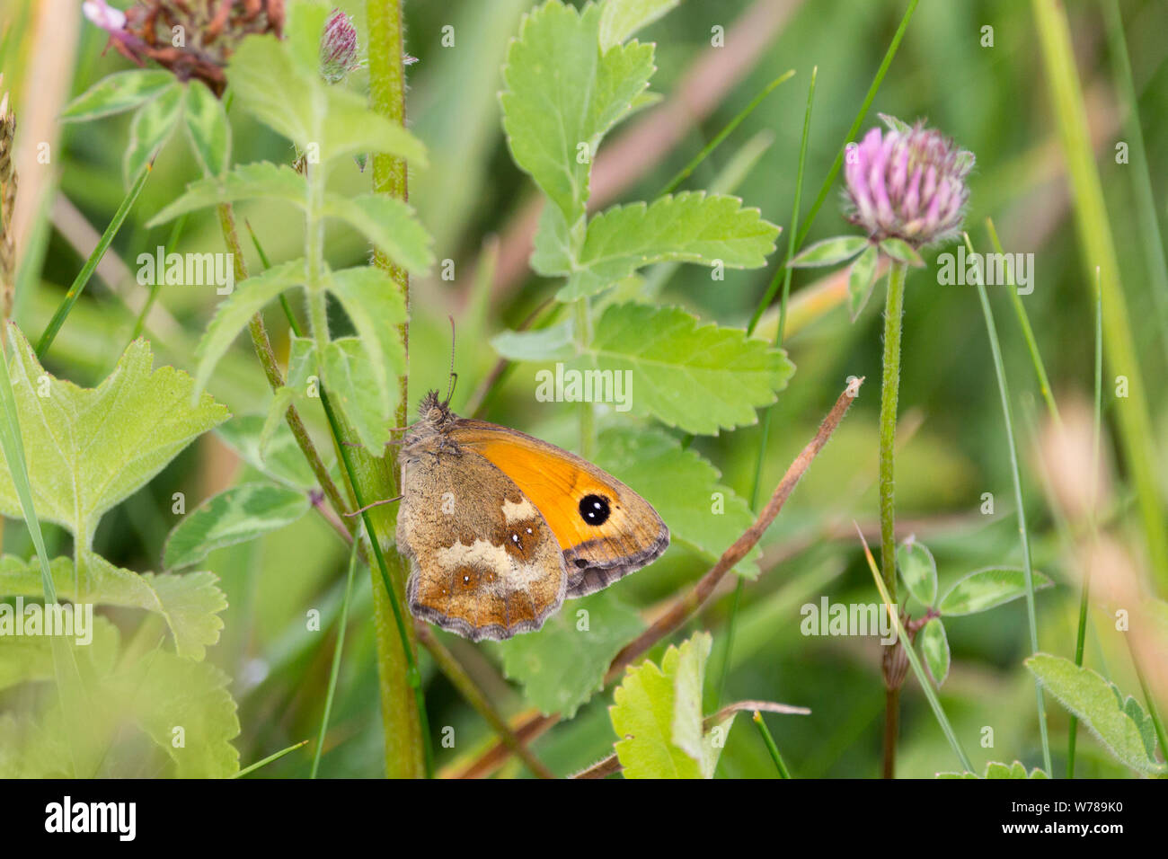
[[[632,376],[630,407],[687,432],[717,434],[755,423],[794,365],[738,328],[702,325],[680,307],[618,304],[597,320],[585,369]]]

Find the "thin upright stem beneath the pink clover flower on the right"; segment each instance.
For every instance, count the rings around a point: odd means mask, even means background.
[[[896,603],[896,402],[901,390],[901,319],[908,265],[894,262],[888,270],[884,303],[884,369],[880,393],[880,568],[889,601]],[[892,647],[906,646],[899,643]],[[899,685],[884,678],[884,777],[896,775],[896,737],[901,708]]]

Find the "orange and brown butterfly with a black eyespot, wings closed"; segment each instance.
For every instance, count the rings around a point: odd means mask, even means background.
[[[586,459],[461,418],[437,392],[419,411],[402,442],[397,517],[417,617],[472,640],[510,638],[669,545],[652,505]]]

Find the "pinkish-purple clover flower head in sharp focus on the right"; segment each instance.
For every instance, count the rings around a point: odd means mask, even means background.
[[[872,129],[848,146],[848,220],[877,242],[895,237],[919,248],[952,238],[969,199],[973,153],[923,123],[885,122],[888,131]]]

